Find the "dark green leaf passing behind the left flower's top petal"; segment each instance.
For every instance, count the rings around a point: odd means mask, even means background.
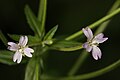
[[[8,36],[15,41],[19,41],[20,36],[23,36],[23,35],[8,34]],[[36,43],[40,44],[41,42],[37,36],[28,35],[28,39],[29,39],[28,45],[34,45]]]

